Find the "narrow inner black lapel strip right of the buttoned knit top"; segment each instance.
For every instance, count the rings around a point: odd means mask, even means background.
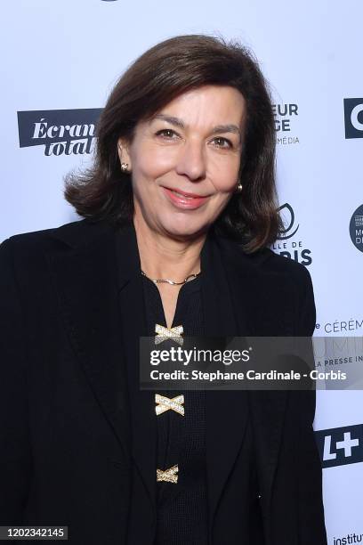
[[[232,305],[222,255],[212,232],[208,233],[202,249],[201,271],[206,336],[237,336],[240,330],[238,317]],[[244,316],[240,315],[239,318],[243,321]],[[210,532],[223,486],[243,441],[246,407],[245,392],[206,391],[206,476]]]

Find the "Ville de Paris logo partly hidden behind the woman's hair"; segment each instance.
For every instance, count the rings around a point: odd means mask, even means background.
[[[304,265],[310,265],[312,262],[311,249],[305,248],[303,240],[299,240],[296,233],[300,224],[295,221],[294,209],[286,202],[278,208],[283,229],[278,233],[278,239],[272,245],[271,249],[280,256],[290,257]]]

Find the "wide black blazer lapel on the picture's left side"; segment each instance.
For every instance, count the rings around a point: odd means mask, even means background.
[[[127,457],[130,411],[117,302],[115,233],[107,224],[69,224],[56,236],[71,248],[48,253],[60,312],[85,376]]]

